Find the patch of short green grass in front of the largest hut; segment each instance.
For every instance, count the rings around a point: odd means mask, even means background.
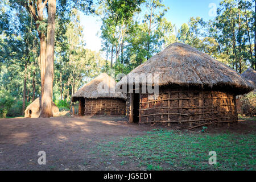
[[[255,134],[156,129],[143,136],[100,143],[98,149],[102,155],[116,155],[148,170],[256,170],[255,142]],[[210,151],[216,151],[217,165],[208,163]]]

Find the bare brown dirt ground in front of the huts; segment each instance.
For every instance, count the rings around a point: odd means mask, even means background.
[[[226,125],[209,128],[209,132],[254,133],[255,123],[241,121],[229,129]],[[124,117],[0,119],[0,170],[137,170],[134,163],[120,166],[118,156],[97,155],[96,145],[144,135],[157,127],[163,126],[131,125]],[[38,164],[39,151],[46,152],[46,165]]]

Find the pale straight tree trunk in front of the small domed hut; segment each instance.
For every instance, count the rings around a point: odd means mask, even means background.
[[[55,16],[56,0],[48,1],[48,26],[46,48],[46,74],[44,77],[44,96],[42,98],[42,111],[40,117],[52,117],[52,85],[53,85],[53,61],[55,42]]]

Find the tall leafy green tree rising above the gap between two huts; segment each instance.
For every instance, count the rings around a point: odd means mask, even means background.
[[[102,19],[101,38],[104,46],[111,46],[110,68],[113,68],[113,59],[117,61],[121,51],[126,31],[133,22],[133,16],[138,13],[140,5],[144,0],[108,0],[101,6],[103,11],[99,11]],[[108,50],[108,48],[103,47]]]

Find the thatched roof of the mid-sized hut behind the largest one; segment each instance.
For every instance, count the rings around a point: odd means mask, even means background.
[[[125,100],[125,96],[121,92],[115,92],[115,80],[108,76],[106,73],[101,73],[101,75],[94,78],[88,84],[85,84],[80,90],[78,90],[72,96],[72,101],[75,102],[79,100],[80,97],[83,98],[122,98]],[[107,92],[98,92],[98,88],[102,90],[106,89]]]

